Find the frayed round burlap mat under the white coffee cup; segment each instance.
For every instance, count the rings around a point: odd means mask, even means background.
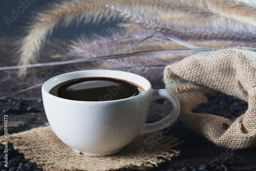
[[[5,139],[4,136],[0,138],[1,142]],[[44,170],[144,170],[178,156],[180,152],[172,147],[181,143],[178,138],[155,132],[138,136],[115,155],[89,157],[73,152],[57,138],[50,126],[12,134],[9,142]]]

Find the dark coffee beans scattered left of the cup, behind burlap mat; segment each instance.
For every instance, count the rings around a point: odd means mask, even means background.
[[[31,130],[34,127],[44,126],[48,123],[42,98],[0,99],[0,117],[8,119],[8,134]],[[4,132],[0,132],[2,136]]]

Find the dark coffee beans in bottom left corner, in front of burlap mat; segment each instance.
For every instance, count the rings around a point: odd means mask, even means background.
[[[42,171],[42,167],[30,162],[24,158],[23,154],[20,154],[13,148],[11,143],[8,143],[8,149],[6,153],[6,147],[4,144],[0,145],[0,170],[2,171]],[[6,154],[7,157],[6,157]],[[6,159],[5,159],[6,158]]]

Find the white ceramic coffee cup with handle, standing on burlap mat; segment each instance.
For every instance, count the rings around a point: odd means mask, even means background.
[[[49,94],[57,84],[81,77],[113,77],[132,81],[145,92],[134,97],[110,101],[77,101]],[[172,111],[154,123],[145,123],[150,103],[167,99]],[[77,153],[106,156],[119,152],[138,135],[160,131],[179,116],[180,103],[172,92],[153,90],[142,76],[115,70],[86,70],[55,76],[42,86],[42,99],[48,121],[57,137]]]

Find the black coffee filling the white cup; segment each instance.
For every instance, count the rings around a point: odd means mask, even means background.
[[[61,82],[49,93],[80,101],[108,101],[137,96],[145,90],[136,83],[111,77],[83,77]]]

